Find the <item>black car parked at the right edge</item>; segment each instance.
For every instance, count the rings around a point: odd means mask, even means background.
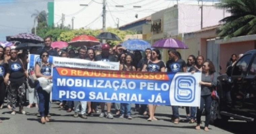
[[[213,124],[233,119],[256,122],[256,50],[246,52],[217,78],[218,99],[211,107]]]

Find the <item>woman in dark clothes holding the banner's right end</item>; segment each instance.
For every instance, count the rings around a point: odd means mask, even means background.
[[[214,65],[210,60],[206,60],[203,64],[202,78],[199,84],[201,85],[201,98],[200,98],[200,108],[197,108],[196,130],[200,130],[201,116],[203,109],[205,108],[205,131],[209,131],[209,121],[211,118],[211,103],[212,97],[211,93],[214,87],[217,85],[217,73],[215,71]]]

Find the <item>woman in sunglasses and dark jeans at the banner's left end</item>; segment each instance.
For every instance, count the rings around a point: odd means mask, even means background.
[[[48,79],[52,79],[51,69],[52,64],[48,62],[49,53],[47,51],[43,51],[40,54],[41,62],[36,62],[35,65],[35,74],[36,77],[45,77]],[[39,98],[39,111],[41,116],[41,123],[45,124],[45,122],[49,122],[48,114],[49,114],[49,102],[50,102],[50,93],[47,93],[43,88],[38,85],[36,87],[38,98]]]

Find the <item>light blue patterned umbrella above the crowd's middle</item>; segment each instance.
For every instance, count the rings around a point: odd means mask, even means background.
[[[151,44],[140,39],[129,39],[121,44],[123,47],[129,50],[144,51],[147,48],[151,48]]]

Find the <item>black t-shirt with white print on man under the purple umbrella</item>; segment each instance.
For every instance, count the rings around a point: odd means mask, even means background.
[[[178,59],[177,61],[168,60],[166,62],[167,72],[183,72],[183,68],[186,66],[185,61],[182,59]]]

